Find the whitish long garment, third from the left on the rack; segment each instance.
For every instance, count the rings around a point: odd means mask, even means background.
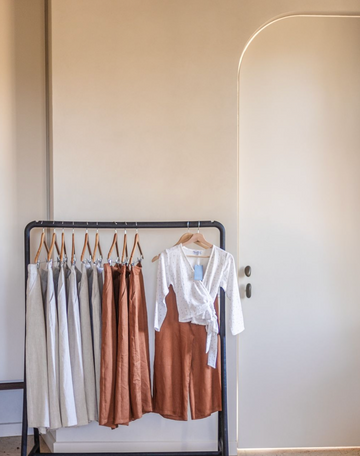
[[[61,420],[63,426],[67,427],[76,426],[77,417],[74,398],[74,387],[71,373],[65,283],[65,266],[64,264],[60,264],[57,293],[59,319],[59,389]]]

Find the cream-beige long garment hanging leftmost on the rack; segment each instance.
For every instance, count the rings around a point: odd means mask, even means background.
[[[26,286],[26,394],[29,427],[49,428],[46,329],[40,268],[28,265]],[[44,430],[44,429],[42,429]]]

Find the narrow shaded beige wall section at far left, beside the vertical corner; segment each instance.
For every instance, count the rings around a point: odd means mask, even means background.
[[[43,1],[0,1],[0,381],[23,378],[26,223],[46,217]],[[0,434],[21,393],[0,393]]]

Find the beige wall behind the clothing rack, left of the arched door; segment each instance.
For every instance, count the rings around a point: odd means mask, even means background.
[[[279,15],[356,9],[355,1],[53,0],[55,217],[217,219],[236,255],[241,53],[252,34]],[[176,235],[141,235],[151,322],[155,267],[149,259]],[[110,235],[104,245],[109,242]],[[231,336],[227,355],[234,454],[237,361]],[[215,429],[214,418],[186,424],[149,416],[125,431],[68,429],[56,439],[58,449],[74,448],[74,440],[85,449],[86,440],[103,445],[108,439],[120,449],[145,445],[156,451],[171,441],[201,449],[214,448]]]

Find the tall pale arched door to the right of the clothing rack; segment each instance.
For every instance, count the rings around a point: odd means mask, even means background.
[[[360,446],[360,19],[281,20],[239,75],[240,448]]]

